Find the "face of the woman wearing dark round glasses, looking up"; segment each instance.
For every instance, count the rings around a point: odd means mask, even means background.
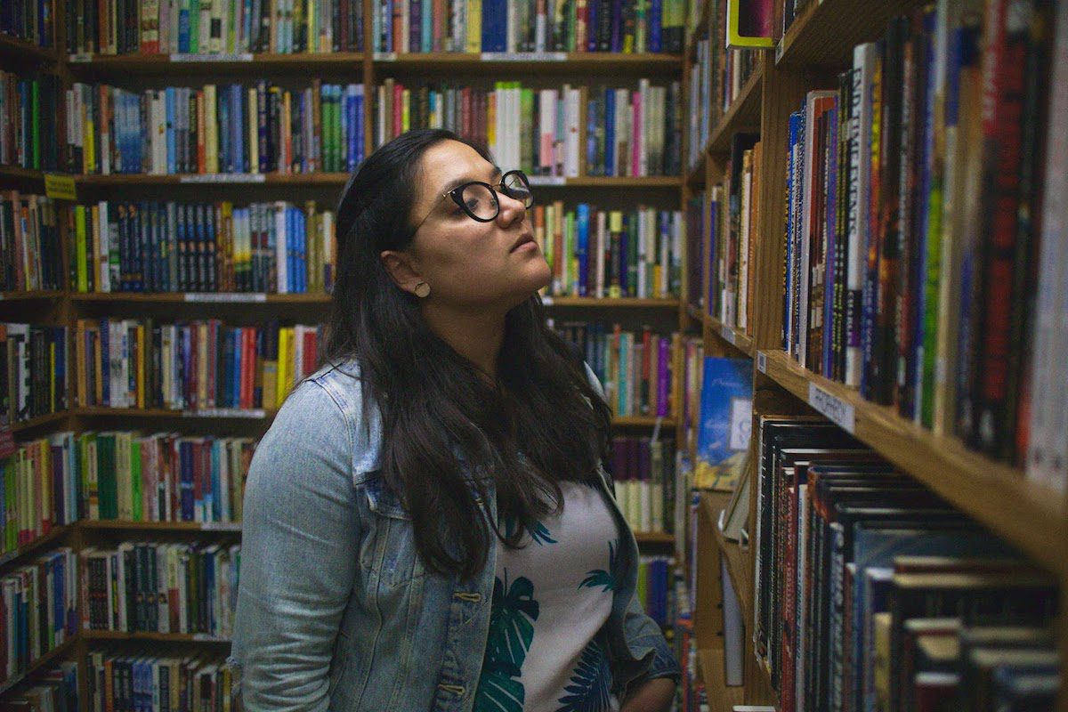
[[[549,265],[520,201],[498,190],[497,218],[477,222],[443,196],[471,180],[498,187],[500,172],[471,146],[442,141],[427,149],[418,180],[410,222],[419,228],[407,252],[436,306],[506,311],[549,283]]]

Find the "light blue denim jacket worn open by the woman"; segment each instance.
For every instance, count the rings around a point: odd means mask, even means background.
[[[358,373],[348,363],[304,380],[256,447],[230,659],[245,709],[467,712],[486,648],[497,548],[474,581],[424,568],[411,520],[382,482],[381,423],[377,410],[364,417]],[[622,691],[677,676],[678,666],[639,603],[638,547],[604,485],[626,532],[625,575],[608,622]],[[481,504],[497,517],[492,495]]]

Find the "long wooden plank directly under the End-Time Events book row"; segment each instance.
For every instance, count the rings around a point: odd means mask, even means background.
[[[815,386],[854,417],[853,432],[890,462],[924,482],[1053,573],[1068,574],[1068,502],[1003,462],[969,450],[869,402],[853,389],[812,374],[783,351],[760,351],[757,367],[798,398]],[[763,367],[761,367],[763,365]]]

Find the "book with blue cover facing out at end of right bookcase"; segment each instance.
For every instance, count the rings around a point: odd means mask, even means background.
[[[694,487],[734,489],[749,450],[752,422],[752,360],[706,357]]]

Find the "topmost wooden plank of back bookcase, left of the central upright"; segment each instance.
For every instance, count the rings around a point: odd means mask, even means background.
[[[79,75],[203,76],[262,75],[265,72],[323,74],[363,73],[363,52],[299,52],[293,54],[73,54],[68,67]]]

